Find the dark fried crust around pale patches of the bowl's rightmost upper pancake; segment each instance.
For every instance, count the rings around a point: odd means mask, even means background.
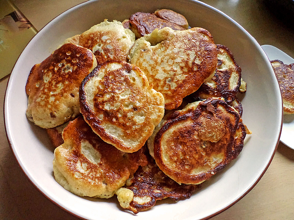
[[[221,70],[222,60],[217,60],[216,73],[209,82],[214,82],[216,87],[210,86],[210,83],[203,83],[200,88],[193,94],[196,97],[206,99],[209,97],[223,97],[225,101],[231,103],[234,101],[236,94],[239,91],[241,85],[241,68],[236,63],[232,52],[224,45],[217,44],[217,53],[222,54],[221,50],[224,50],[234,63],[234,66],[230,69]],[[230,77],[232,72],[237,72],[239,77],[237,78],[236,86],[230,89]]]

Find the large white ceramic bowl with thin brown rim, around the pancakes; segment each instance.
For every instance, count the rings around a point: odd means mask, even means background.
[[[239,157],[190,199],[158,203],[137,216],[120,209],[116,198],[82,198],[54,180],[53,148],[46,132],[26,116],[25,83],[30,69],[48,57],[66,38],[108,20],[123,21],[137,11],[168,8],[184,16],[191,27],[206,28],[214,41],[227,46],[247,82],[243,122],[252,131]],[[202,2],[191,0],[89,1],[77,5],[47,24],[22,52],[11,73],[5,98],[5,126],[15,157],[25,174],[50,200],[85,219],[204,219],[224,211],[248,193],[266,171],[281,134],[282,99],[269,60],[256,40],[239,24]],[[269,120],[270,119],[270,120]]]

